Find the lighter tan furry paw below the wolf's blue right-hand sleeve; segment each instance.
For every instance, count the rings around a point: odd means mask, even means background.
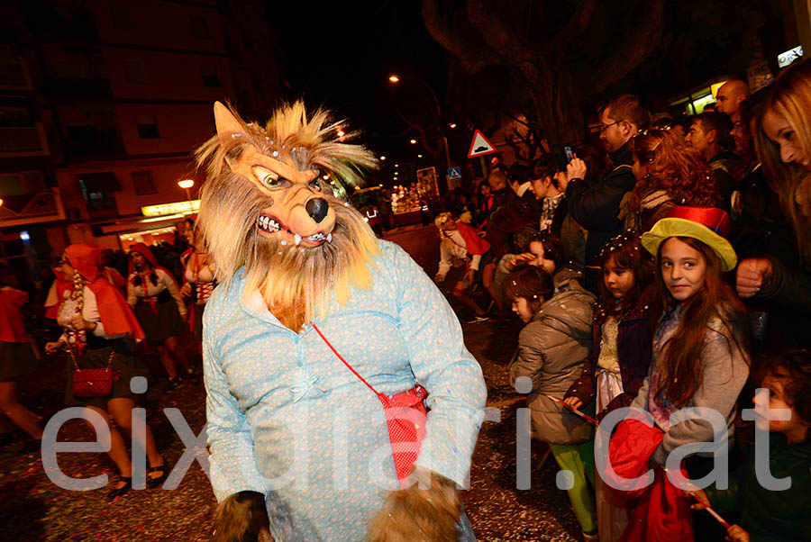
[[[456,484],[417,468],[416,483],[390,492],[369,526],[367,542],[456,542],[461,502]],[[420,485],[430,489],[420,489]]]

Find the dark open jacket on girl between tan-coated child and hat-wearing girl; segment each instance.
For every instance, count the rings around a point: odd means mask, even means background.
[[[649,285],[640,294],[633,309],[619,323],[616,351],[619,358],[620,376],[623,380],[623,393],[608,403],[604,411],[597,412],[598,418],[602,419],[608,412],[620,407],[630,406],[636,398],[639,388],[642,387],[651,366],[652,322],[656,313],[659,312],[657,307],[660,304],[656,285]],[[597,359],[600,357],[602,347],[602,324],[594,322],[592,337],[594,342],[591,355],[588,357],[583,374],[566,393],[567,397],[577,397],[583,402],[584,407],[597,398]]]

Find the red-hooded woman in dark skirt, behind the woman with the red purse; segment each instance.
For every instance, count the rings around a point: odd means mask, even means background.
[[[157,258],[143,243],[130,247],[127,303],[141,322],[150,345],[158,348],[160,363],[169,375],[169,389],[180,385],[176,361],[183,366],[184,377],[194,378],[195,371],[180,344],[180,337],[187,332],[186,303],[175,277],[158,265]]]

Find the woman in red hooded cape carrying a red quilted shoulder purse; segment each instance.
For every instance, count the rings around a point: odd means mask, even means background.
[[[105,397],[74,396],[72,378],[68,378],[65,390],[68,406],[96,411],[107,420],[111,437],[107,454],[120,475],[109,493],[113,501],[132,488],[132,462],[119,432],[119,429],[132,429],[132,409],[137,400],[130,389],[130,380],[135,376],[147,377],[149,372],[133,355],[132,339],[143,339],[143,330],[123,295],[102,275],[102,250],[102,247],[88,243],[65,249],[59,271],[73,281],[73,288],[63,291],[57,311],[57,322],[64,333],[58,340],[47,343],[45,351],[52,354],[60,348],[68,350],[68,375],[73,375],[75,366],[105,368],[109,365],[119,377]],[[115,421],[115,427],[109,424],[109,420]],[[92,427],[89,421],[87,423]],[[155,446],[149,426],[142,435],[133,433],[132,440],[146,450],[150,461],[147,482],[150,485],[161,483],[168,469]]]

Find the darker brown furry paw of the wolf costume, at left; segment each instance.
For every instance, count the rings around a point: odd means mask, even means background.
[[[211,542],[273,542],[262,494],[238,492],[221,502]]]

